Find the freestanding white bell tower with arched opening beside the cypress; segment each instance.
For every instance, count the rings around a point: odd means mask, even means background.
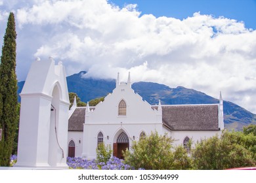
[[[32,63],[20,93],[15,167],[68,168],[69,97],[66,72],[53,58]]]

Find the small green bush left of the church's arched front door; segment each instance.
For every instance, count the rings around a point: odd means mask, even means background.
[[[112,148],[110,145],[105,145],[104,142],[98,144],[98,147],[96,148],[96,162],[104,162],[105,164],[112,156]]]

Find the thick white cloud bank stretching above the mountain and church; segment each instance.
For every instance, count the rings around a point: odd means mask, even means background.
[[[87,77],[116,78],[120,72],[126,79],[131,71],[133,82],[184,86],[213,97],[221,90],[224,99],[256,112],[256,31],[243,22],[200,12],[184,20],[140,16],[136,5],[120,8],[105,0],[14,7],[20,50],[34,42],[27,58],[53,56],[69,75],[87,70]]]

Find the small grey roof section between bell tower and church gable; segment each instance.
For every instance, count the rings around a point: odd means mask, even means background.
[[[83,131],[85,123],[85,107],[75,108],[72,116],[68,120],[68,131]]]

